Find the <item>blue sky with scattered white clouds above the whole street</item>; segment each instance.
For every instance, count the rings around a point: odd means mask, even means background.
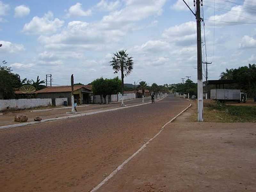
[[[195,12],[193,0],[185,1]],[[209,80],[256,63],[254,0],[203,0],[203,12]],[[125,83],[197,81],[196,20],[182,0],[0,0],[0,44],[0,60],[21,79],[52,74],[53,85],[70,85],[71,74],[83,84],[114,78],[109,61],[124,49],[134,61]]]

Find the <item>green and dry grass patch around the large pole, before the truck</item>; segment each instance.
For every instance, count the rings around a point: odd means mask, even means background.
[[[191,120],[197,121],[197,113]],[[204,100],[204,121],[206,122],[252,122],[256,123],[255,106],[233,106],[213,100]]]

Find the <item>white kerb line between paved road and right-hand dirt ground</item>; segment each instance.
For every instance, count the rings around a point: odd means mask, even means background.
[[[160,131],[154,136],[152,137],[150,140],[148,140],[147,143],[145,143],[144,145],[142,145],[138,151],[136,151],[135,153],[132,154],[132,156],[130,156],[128,159],[126,159],[121,165],[119,165],[112,173],[110,173],[108,175],[108,177],[106,177],[103,181],[100,182],[99,185],[97,185],[95,188],[93,188],[90,192],[95,192],[97,191],[102,185],[104,185],[108,180],[110,180],[112,177],[114,177],[114,175],[120,171],[121,169],[123,169],[124,165],[127,164],[133,157],[135,157],[138,153],[140,153],[140,151],[144,148],[147,147],[147,145],[153,140],[155,139],[163,130],[164,127],[171,123],[172,121],[174,121],[178,116],[180,116],[184,111],[186,111],[188,108],[190,108],[192,105],[192,103],[190,102],[190,105],[188,107],[186,107],[184,110],[182,110],[178,115],[176,115],[175,117],[173,117],[170,121],[168,121],[166,124],[164,124],[163,127],[161,127]]]

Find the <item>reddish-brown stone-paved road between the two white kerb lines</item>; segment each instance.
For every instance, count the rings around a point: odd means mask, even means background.
[[[89,191],[152,138],[188,100],[0,130],[2,191]]]

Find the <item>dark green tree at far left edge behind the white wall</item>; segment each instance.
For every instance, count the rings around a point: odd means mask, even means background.
[[[3,61],[3,64],[6,64],[6,62]],[[10,67],[0,66],[0,92],[3,94],[3,99],[14,98],[13,88],[19,88],[20,86],[20,76],[12,73]]]

